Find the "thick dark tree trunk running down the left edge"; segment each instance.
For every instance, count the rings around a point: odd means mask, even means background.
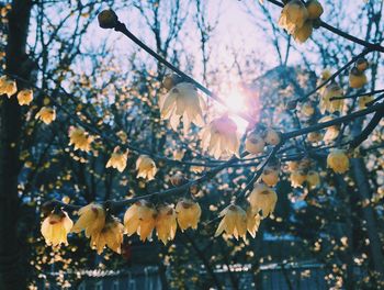
[[[32,2],[14,0],[9,12],[9,33],[5,48],[10,75],[29,79],[25,54]],[[19,88],[24,83],[18,81]],[[0,289],[25,289],[25,264],[22,243],[18,238],[18,176],[19,144],[22,125],[21,110],[15,96],[0,100]]]

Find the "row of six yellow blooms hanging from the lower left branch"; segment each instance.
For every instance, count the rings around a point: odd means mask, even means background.
[[[115,253],[121,253],[123,235],[137,234],[140,241],[151,241],[153,232],[163,244],[172,241],[178,225],[183,232],[187,228],[197,228],[201,217],[199,203],[182,199],[176,208],[172,204],[155,207],[146,200],[139,200],[132,204],[124,215],[124,225],[120,220],[110,214],[102,205],[90,203],[78,211],[79,219],[75,223],[63,210],[49,212],[42,223],[42,234],[47,245],[59,246],[68,244],[67,235],[84,231],[90,238],[90,245],[99,254],[109,247]]]

